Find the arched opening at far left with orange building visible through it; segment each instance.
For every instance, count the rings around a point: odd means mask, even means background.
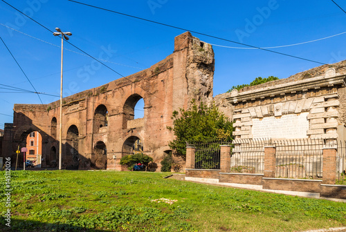
[[[41,164],[42,135],[38,131],[25,131],[22,136],[26,137],[21,145],[28,149],[26,160],[30,160],[35,166]]]

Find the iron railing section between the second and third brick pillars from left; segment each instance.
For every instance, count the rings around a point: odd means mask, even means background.
[[[271,139],[235,139],[230,157],[231,173],[264,173],[264,146]]]

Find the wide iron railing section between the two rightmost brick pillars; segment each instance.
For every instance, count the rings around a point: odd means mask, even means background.
[[[285,139],[273,144],[276,147],[275,177],[322,178],[325,139]]]

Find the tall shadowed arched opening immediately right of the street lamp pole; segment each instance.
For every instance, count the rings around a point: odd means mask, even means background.
[[[79,167],[79,132],[75,125],[69,127],[66,135],[66,157],[63,160],[66,163],[66,169],[78,169]]]

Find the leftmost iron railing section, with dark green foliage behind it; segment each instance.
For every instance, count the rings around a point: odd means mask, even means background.
[[[230,144],[231,141],[213,139],[204,142],[187,142],[188,146],[194,146],[194,168],[196,169],[220,169],[220,145]]]

